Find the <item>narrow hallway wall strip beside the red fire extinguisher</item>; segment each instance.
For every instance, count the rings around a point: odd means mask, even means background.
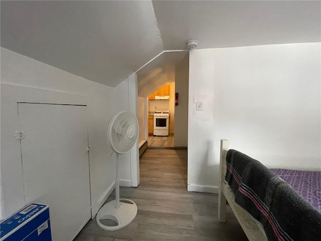
[[[187,147],[188,106],[189,106],[189,55],[175,71],[175,91],[178,92],[179,105],[175,106],[174,146]]]

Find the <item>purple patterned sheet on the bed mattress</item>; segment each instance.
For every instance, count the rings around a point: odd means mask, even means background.
[[[271,169],[321,213],[321,172]]]

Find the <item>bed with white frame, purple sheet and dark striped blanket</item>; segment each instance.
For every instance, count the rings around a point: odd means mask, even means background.
[[[302,173],[268,169],[221,140],[219,221],[226,221],[228,202],[250,241],[320,241],[321,172],[299,181]]]

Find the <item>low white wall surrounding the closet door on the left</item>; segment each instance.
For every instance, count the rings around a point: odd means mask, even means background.
[[[25,206],[17,102],[87,104],[93,215],[113,190],[115,162],[106,127],[115,112],[114,88],[1,48],[1,219]],[[126,95],[124,94],[124,97]]]

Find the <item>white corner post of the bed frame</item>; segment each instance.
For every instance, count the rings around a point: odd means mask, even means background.
[[[226,198],[223,190],[225,186],[225,173],[226,173],[226,153],[229,150],[229,141],[221,140],[220,149],[220,183],[219,183],[219,200],[217,216],[220,222],[226,221]]]

